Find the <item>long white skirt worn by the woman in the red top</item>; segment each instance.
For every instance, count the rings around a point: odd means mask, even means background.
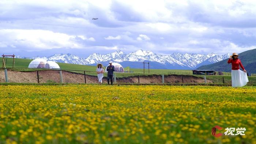
[[[242,87],[249,82],[246,72],[238,70],[231,70],[232,87]]]

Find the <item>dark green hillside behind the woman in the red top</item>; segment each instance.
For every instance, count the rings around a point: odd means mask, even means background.
[[[248,50],[239,54],[242,64],[248,73],[256,73],[256,49]],[[227,63],[228,59],[216,62],[214,64],[203,65],[197,69],[212,69],[214,71],[231,72],[231,64]]]

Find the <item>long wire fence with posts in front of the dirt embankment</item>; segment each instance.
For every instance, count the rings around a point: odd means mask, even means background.
[[[251,74],[256,76],[256,74]],[[73,69],[31,69],[31,68],[0,68],[0,82],[12,83],[98,83],[95,71]],[[175,71],[159,73],[114,72],[112,82],[122,83],[226,83],[231,84],[231,76],[225,75],[193,75],[192,72]],[[108,83],[104,73],[102,83]],[[254,83],[254,82],[251,82]],[[111,79],[109,79],[111,84]]]

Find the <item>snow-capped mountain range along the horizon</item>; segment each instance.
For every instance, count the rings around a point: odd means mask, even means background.
[[[173,53],[171,55],[158,55],[150,50],[137,50],[136,52],[125,54],[121,50],[117,50],[113,53],[100,54],[93,53],[90,54],[87,58],[80,58],[73,54],[54,54],[49,57],[33,57],[43,58],[45,60],[55,61],[55,62],[64,62],[71,64],[82,64],[82,65],[92,65],[99,62],[113,61],[118,62],[125,66],[134,65],[136,62],[142,61],[151,61],[154,65],[151,65],[151,68],[158,68],[161,65],[161,68],[166,69],[194,69],[200,67],[201,65],[212,64],[221,60],[224,60],[229,57],[229,53],[219,56],[215,53],[209,54],[195,54],[195,53]],[[135,63],[134,63],[135,62]],[[132,66],[130,66],[132,67]],[[132,67],[138,68],[138,67]],[[140,67],[139,67],[140,68]]]

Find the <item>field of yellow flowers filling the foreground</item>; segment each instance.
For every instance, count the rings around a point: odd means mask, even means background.
[[[249,144],[255,122],[255,86],[0,86],[0,144]]]

